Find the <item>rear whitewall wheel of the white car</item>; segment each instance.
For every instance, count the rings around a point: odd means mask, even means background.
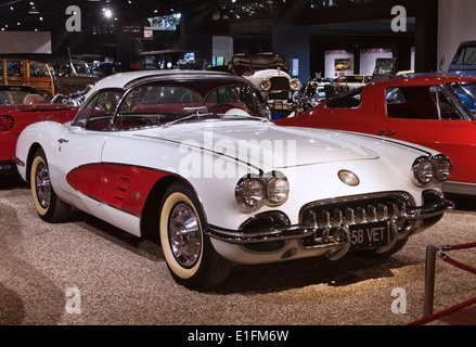
[[[69,216],[70,206],[60,200],[51,185],[44,151],[35,153],[30,171],[30,189],[35,208],[40,218],[48,222],[61,222]]]

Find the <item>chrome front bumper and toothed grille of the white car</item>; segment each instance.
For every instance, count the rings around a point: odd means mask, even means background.
[[[428,193],[430,194],[430,193]],[[385,200],[388,195],[398,197],[397,203],[383,205],[376,202]],[[221,229],[208,226],[206,233],[214,239],[230,244],[271,243],[283,240],[311,239],[309,247],[339,248],[350,243],[350,229],[365,228],[369,223],[389,223],[391,231],[390,243],[397,239],[406,239],[436,223],[442,215],[454,208],[454,204],[443,197],[439,192],[434,192],[428,203],[423,206],[410,207],[408,195],[402,193],[366,195],[368,208],[355,206],[360,203],[359,196],[353,197],[352,207],[342,207],[348,203],[349,197],[339,201],[324,201],[304,206],[300,222],[291,224],[287,216],[281,211],[268,211],[252,217],[237,230]],[[350,198],[351,200],[351,198]],[[395,198],[394,198],[395,200]],[[336,207],[340,207],[338,209]],[[327,210],[327,207],[333,210]],[[345,209],[343,213],[342,210]],[[319,215],[318,213],[319,211]],[[306,246],[306,245],[305,245]]]

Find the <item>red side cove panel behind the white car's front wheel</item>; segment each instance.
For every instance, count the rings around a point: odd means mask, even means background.
[[[140,216],[149,192],[168,172],[118,164],[90,164],[67,176],[81,193],[126,213]]]

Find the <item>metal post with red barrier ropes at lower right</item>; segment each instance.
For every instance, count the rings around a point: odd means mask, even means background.
[[[448,307],[438,312],[433,312],[433,300],[434,300],[434,292],[435,292],[435,266],[436,266],[436,256],[439,257],[455,266],[459,269],[468,271],[471,273],[476,274],[476,268],[473,268],[468,265],[462,264],[454,258],[448,256],[445,250],[454,250],[454,249],[464,249],[464,248],[473,248],[476,247],[476,242],[458,244],[458,245],[446,245],[440,248],[436,246],[427,246],[426,247],[426,266],[425,266],[425,299],[423,307],[423,318],[415,320],[413,322],[408,323],[407,325],[422,325],[426,324],[430,321],[439,319],[441,317],[448,316],[455,311],[459,311],[465,307],[472,306],[476,304],[476,297],[456,304],[454,306]]]

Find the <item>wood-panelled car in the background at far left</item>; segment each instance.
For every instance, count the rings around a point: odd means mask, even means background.
[[[56,93],[48,63],[16,54],[0,56],[0,85],[33,86],[43,100]]]

